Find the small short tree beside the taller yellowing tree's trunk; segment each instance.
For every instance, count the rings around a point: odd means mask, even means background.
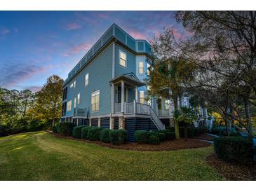
[[[180,107],[177,121],[185,123],[185,128],[184,128],[185,141],[187,141],[187,138],[189,137],[187,125],[194,123],[194,121],[196,120],[197,120],[196,113],[193,111],[193,109],[191,109],[191,107]]]

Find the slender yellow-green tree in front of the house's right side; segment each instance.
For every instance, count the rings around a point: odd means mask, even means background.
[[[165,29],[163,34],[151,43],[152,51],[157,59],[154,61],[154,68],[149,69],[149,95],[173,100],[175,137],[180,139],[177,120],[178,99],[184,91],[184,83],[193,78],[196,66],[194,62],[187,60],[182,50],[182,43],[177,43],[173,30]]]

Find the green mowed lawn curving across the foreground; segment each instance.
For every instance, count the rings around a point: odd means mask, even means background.
[[[221,180],[213,146],[142,152],[27,132],[0,138],[0,180]]]

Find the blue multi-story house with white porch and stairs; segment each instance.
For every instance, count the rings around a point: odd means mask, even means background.
[[[164,98],[147,97],[151,46],[113,24],[69,72],[63,85],[61,121],[75,125],[163,130],[173,120]]]

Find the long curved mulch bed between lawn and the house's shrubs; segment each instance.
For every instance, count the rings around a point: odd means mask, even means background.
[[[106,146],[112,149],[126,149],[126,150],[133,150],[133,151],[172,151],[172,150],[179,150],[179,149],[200,148],[200,147],[206,147],[206,146],[212,145],[208,142],[198,141],[194,139],[188,139],[187,142],[184,141],[184,139],[166,141],[166,142],[161,142],[161,144],[159,145],[137,144],[133,142],[127,142],[126,144],[121,144],[121,145],[112,145],[112,144],[105,144],[98,141],[93,142],[86,139],[76,139],[73,137],[62,136],[55,133],[52,133],[52,134],[58,138],[73,139],[73,140],[78,140],[82,142],[98,144],[100,146]]]

